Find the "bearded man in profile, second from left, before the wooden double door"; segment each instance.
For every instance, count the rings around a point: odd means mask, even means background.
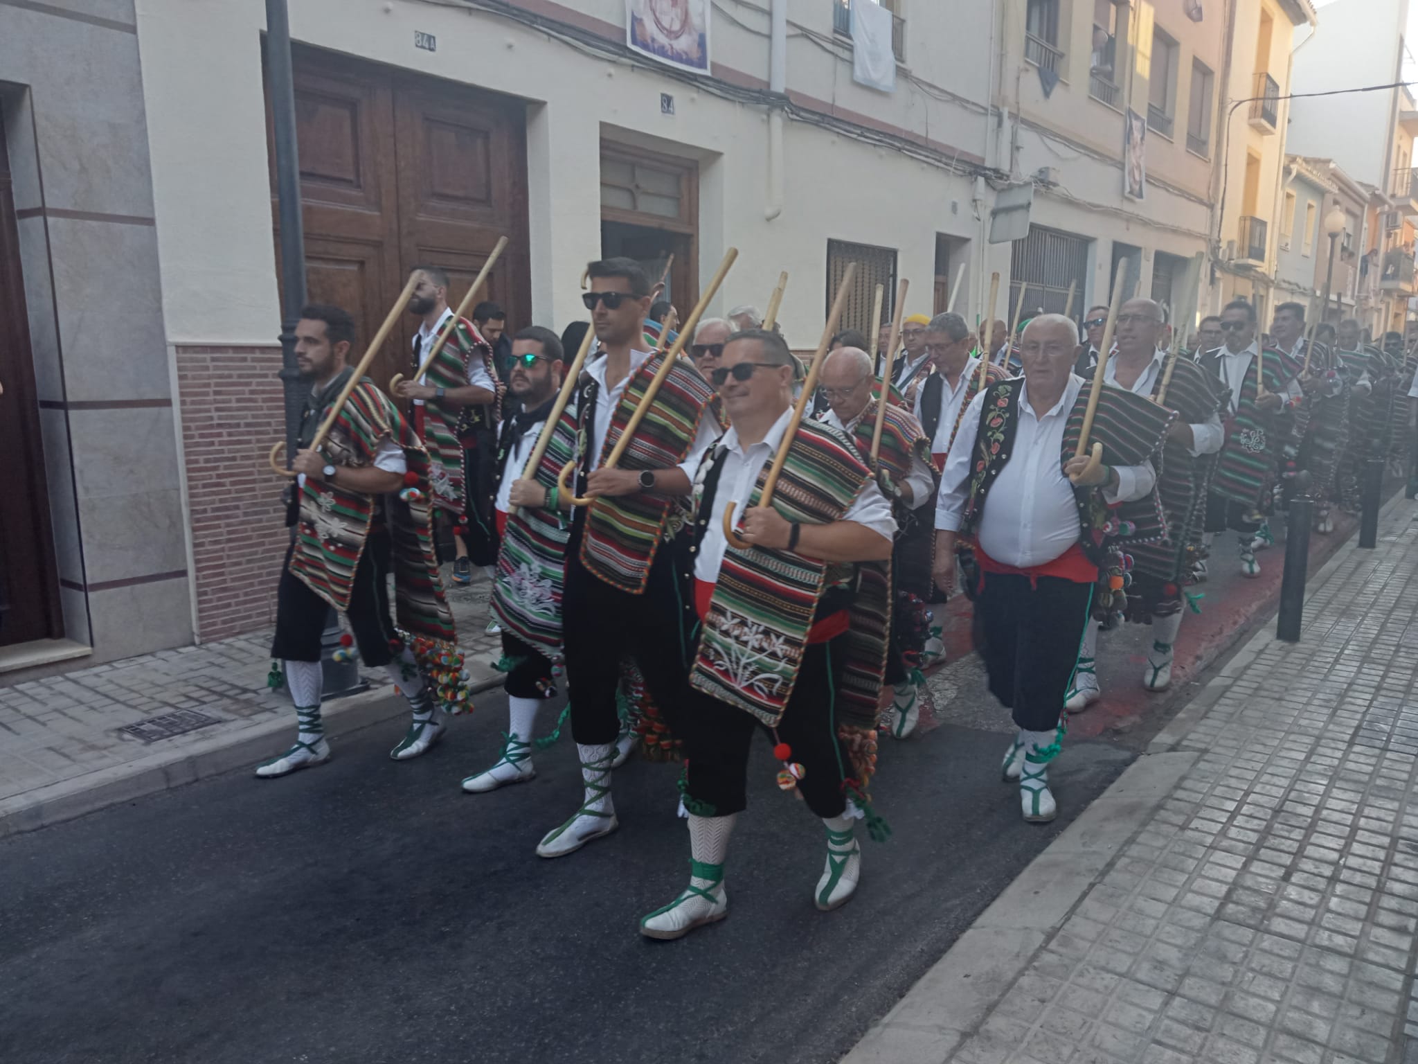
[[[418,285],[408,298],[408,312],[423,318],[413,345],[417,370],[452,319],[448,271],[435,265],[418,267]],[[423,379],[400,380],[396,394],[410,401],[414,431],[432,460],[434,509],[458,529],[454,533],[454,583],[469,583],[474,560],[491,565],[496,550],[491,528],[492,448],[502,386],[492,365],[492,346],[472,322],[459,318]],[[469,559],[469,542],[475,559]]]

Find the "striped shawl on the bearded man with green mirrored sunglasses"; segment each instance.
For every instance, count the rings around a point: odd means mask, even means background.
[[[562,467],[576,455],[580,393],[577,389],[566,404],[566,413],[557,421],[533,474],[533,480],[545,488],[556,487]],[[518,480],[522,470],[505,467],[502,475]],[[492,609],[502,627],[553,661],[562,655],[562,592],[570,538],[571,522],[563,514],[522,506],[508,516],[492,582]]]

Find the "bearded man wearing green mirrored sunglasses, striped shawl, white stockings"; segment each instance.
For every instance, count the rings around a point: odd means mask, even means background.
[[[556,477],[576,450],[576,411],[557,423],[546,454],[525,478],[562,386],[564,353],[550,329],[516,335],[508,363],[509,411],[498,436],[496,522],[501,549],[492,583],[492,611],[502,628],[508,731],[496,763],[468,776],[472,793],[523,783],[533,776],[532,735],[542,702],[556,697],[562,658],[562,594],[566,575],[567,509]],[[516,508],[516,514],[512,509]]]

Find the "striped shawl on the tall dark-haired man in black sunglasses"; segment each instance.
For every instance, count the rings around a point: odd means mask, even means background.
[[[597,465],[610,457],[615,441],[640,406],[651,379],[665,355],[652,355],[631,375],[620,403],[611,414],[610,428]],[[655,393],[635,436],[620,460],[621,470],[668,470],[689,454],[699,419],[703,417],[713,390],[699,376],[689,359],[676,359],[665,383]],[[641,594],[649,577],[655,550],[665,536],[666,518],[675,501],[668,495],[641,491],[615,498],[600,497],[586,514],[581,536],[581,563],[597,577],[630,594]]]

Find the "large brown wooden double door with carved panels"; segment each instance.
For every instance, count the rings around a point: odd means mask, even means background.
[[[350,311],[363,350],[411,268],[444,267],[457,305],[506,235],[479,301],[530,323],[525,105],[313,48],[294,61],[309,299]],[[274,211],[274,143],[271,160]],[[407,372],[418,319],[400,322],[372,372],[381,387]]]

